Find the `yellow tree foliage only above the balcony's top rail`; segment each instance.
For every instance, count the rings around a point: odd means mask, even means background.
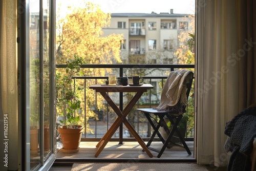
[[[57,63],[65,63],[67,51],[87,56],[89,63],[121,62],[120,45],[122,34],[102,36],[102,28],[110,25],[110,13],[102,12],[98,6],[85,3],[82,7],[71,7],[65,18],[59,18],[56,37]]]

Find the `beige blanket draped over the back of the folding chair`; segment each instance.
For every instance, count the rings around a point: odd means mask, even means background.
[[[164,83],[158,111],[172,111],[180,100],[180,106],[187,105],[186,83],[192,75],[189,70],[172,71]],[[182,111],[179,110],[179,113]]]

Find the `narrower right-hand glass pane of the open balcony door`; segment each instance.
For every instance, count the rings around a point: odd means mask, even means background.
[[[45,160],[50,153],[50,57],[49,57],[49,0],[44,0],[43,18],[43,59],[44,59],[44,156]]]

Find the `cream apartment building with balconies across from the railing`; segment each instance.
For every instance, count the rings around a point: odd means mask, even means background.
[[[169,13],[112,13],[111,24],[103,28],[103,36],[123,34],[121,58],[126,63],[176,64],[175,52],[186,46],[188,37],[178,36],[193,32],[194,16]]]

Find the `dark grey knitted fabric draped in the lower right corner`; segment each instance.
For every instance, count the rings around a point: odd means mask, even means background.
[[[256,137],[256,107],[243,110],[227,122],[224,133],[229,136],[225,150],[232,152],[228,170],[250,170],[250,153]]]

